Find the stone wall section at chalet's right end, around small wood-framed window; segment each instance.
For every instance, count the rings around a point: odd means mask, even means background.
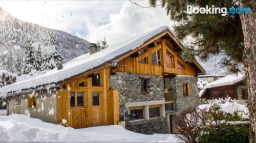
[[[198,97],[197,78],[194,76],[177,75],[169,77],[169,87],[173,90],[173,98],[175,101],[175,111],[177,113],[184,109],[198,106],[201,101]],[[183,96],[183,83],[190,84],[190,96]]]

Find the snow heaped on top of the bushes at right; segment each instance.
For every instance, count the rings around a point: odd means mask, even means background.
[[[232,100],[230,97],[225,99],[214,99],[209,104],[199,105],[200,109],[209,109],[212,105],[218,105],[223,112],[230,113],[233,115],[234,112],[238,111],[244,119],[249,119],[249,109],[246,105],[242,105]]]

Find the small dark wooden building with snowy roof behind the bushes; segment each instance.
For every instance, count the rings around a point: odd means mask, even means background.
[[[245,74],[231,74],[219,80],[208,83],[200,91],[201,98],[212,100],[214,98],[231,97],[231,99],[247,100],[248,88]],[[245,103],[245,102],[244,102]]]

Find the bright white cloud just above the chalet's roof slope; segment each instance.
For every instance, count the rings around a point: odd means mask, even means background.
[[[140,4],[147,5],[147,2],[140,2]],[[125,2],[118,14],[111,14],[109,21],[109,23],[102,25],[88,23],[89,34],[86,39],[97,42],[106,37],[109,45],[111,45],[159,26],[173,25],[173,22],[166,15],[165,9],[161,7],[142,9],[130,2]]]

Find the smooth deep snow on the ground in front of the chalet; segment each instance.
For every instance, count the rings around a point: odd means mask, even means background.
[[[177,138],[135,133],[119,125],[73,129],[12,114],[0,117],[0,142],[177,142]]]

